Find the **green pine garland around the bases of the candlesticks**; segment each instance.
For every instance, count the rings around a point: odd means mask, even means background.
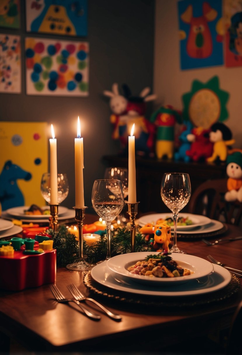
[[[59,230],[55,232],[49,229],[46,233],[51,234],[56,249],[56,264],[59,267],[65,267],[79,259],[79,242],[75,235],[68,233],[66,226],[61,225]],[[136,251],[151,251],[147,247],[147,241],[140,233],[136,233]],[[130,253],[131,237],[130,230],[127,228],[118,228],[111,232],[111,256]],[[93,246],[88,246],[83,242],[83,255],[89,263],[96,263],[104,260],[107,255],[107,238],[106,235],[101,236],[101,240]]]

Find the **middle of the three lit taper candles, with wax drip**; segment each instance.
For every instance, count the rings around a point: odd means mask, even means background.
[[[83,185],[83,138],[81,138],[81,125],[79,116],[77,119],[77,138],[75,138],[75,187],[76,208],[84,208],[84,185]]]

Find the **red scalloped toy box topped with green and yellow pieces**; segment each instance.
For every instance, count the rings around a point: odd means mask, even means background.
[[[54,283],[56,249],[48,235],[0,242],[0,289],[21,291]]]

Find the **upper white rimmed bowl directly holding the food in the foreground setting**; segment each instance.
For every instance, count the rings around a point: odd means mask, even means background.
[[[144,275],[131,274],[128,271],[128,267],[134,265],[137,261],[142,261],[150,254],[158,255],[158,252],[137,252],[121,254],[110,258],[107,261],[108,268],[122,276],[132,279],[135,282],[148,284],[148,285],[176,285],[180,283],[185,283],[194,279],[198,279],[209,275],[213,272],[213,264],[209,261],[199,258],[194,255],[171,253],[173,260],[177,261],[178,265],[182,268],[187,268],[193,273],[191,275],[186,275],[182,277],[148,277]]]

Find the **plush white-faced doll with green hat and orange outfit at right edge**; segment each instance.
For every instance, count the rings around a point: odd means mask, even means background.
[[[229,179],[225,200],[242,202],[242,151],[228,155],[226,173]]]

